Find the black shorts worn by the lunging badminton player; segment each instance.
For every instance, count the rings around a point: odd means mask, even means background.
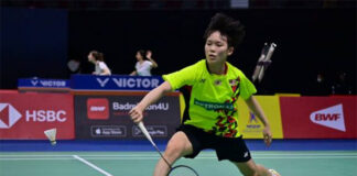
[[[216,151],[218,161],[229,160],[240,163],[248,162],[251,158],[250,152],[241,136],[221,138],[186,124],[181,125],[177,131],[184,132],[193,146],[193,153],[184,157],[194,158],[202,150],[213,148]]]

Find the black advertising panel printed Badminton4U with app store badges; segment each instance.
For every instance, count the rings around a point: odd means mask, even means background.
[[[144,139],[128,112],[143,96],[75,96],[76,139]],[[153,138],[170,139],[180,125],[178,96],[166,96],[144,111]]]

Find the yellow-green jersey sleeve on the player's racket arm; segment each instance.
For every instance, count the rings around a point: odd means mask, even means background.
[[[185,85],[192,86],[196,81],[198,65],[194,64],[172,74],[163,75],[162,78],[170,82],[172,90],[176,90]]]

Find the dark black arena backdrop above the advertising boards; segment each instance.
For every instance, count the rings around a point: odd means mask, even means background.
[[[18,78],[69,78],[71,59],[91,74],[91,50],[116,75],[134,69],[141,48],[153,52],[154,75],[175,72],[205,57],[203,33],[216,12],[246,25],[229,62],[248,77],[263,43],[277,43],[259,94],[356,94],[354,0],[2,0],[0,88],[17,88]],[[342,75],[346,88],[335,91]]]

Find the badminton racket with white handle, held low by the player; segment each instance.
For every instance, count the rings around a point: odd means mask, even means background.
[[[161,158],[170,167],[170,172],[167,176],[198,176],[197,172],[191,168],[186,165],[177,165],[172,167],[172,165],[167,162],[167,160],[162,155],[156,144],[152,141],[150,133],[148,132],[147,128],[142,122],[138,123],[138,127],[142,131],[142,133],[145,135],[145,138],[150,141],[152,146],[156,150],[156,152],[160,154]]]

